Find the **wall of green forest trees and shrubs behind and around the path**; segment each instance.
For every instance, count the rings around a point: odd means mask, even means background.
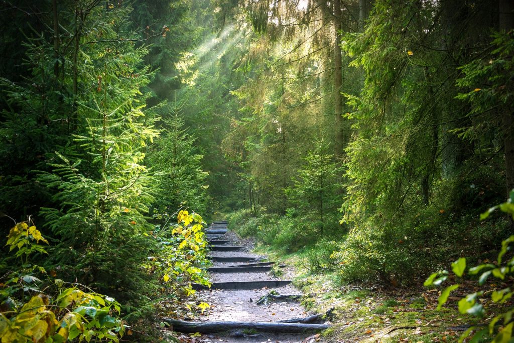
[[[4,303],[43,273],[134,328],[180,312],[208,282],[196,213],[343,283],[488,259],[513,232],[480,221],[514,188],[512,6],[0,1],[0,223],[34,226]]]

